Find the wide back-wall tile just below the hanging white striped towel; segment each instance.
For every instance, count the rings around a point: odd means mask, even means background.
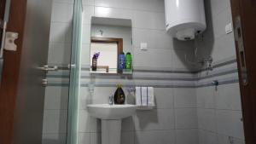
[[[133,117],[135,130],[172,130],[174,112],[172,109],[137,111]]]

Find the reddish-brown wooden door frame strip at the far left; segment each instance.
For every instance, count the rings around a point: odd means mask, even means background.
[[[21,50],[26,20],[26,0],[12,0],[9,11],[8,32],[18,32],[17,51],[3,52],[3,72],[0,88],[0,143],[14,142],[15,103],[18,93]]]

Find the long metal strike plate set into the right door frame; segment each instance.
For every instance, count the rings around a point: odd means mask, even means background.
[[[238,47],[238,57],[240,60],[240,69],[241,69],[241,78],[242,78],[242,84],[247,85],[248,79],[247,79],[247,64],[246,64],[246,56],[245,56],[245,50],[244,50],[244,44],[243,44],[243,38],[242,38],[242,29],[241,29],[241,18],[240,16],[236,17],[236,26],[235,26],[235,39],[236,39],[236,45]]]

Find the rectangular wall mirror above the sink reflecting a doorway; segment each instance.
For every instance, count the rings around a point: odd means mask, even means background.
[[[131,20],[92,17],[91,73],[132,73]]]

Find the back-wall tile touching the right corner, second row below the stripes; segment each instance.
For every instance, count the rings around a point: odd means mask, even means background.
[[[197,128],[196,108],[175,109],[175,128],[193,129]]]

